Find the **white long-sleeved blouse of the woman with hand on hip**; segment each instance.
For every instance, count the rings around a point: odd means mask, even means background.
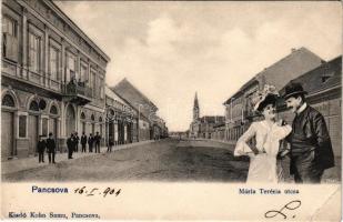
[[[276,157],[279,152],[279,142],[284,139],[292,131],[291,125],[278,125],[275,122],[271,127],[263,121],[253,122],[248,131],[239,139],[234,149],[234,155],[250,155],[252,154],[251,148],[248,145],[248,141],[255,137],[256,149],[259,151],[266,152],[268,155]]]

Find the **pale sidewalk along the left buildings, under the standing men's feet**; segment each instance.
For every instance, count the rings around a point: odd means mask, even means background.
[[[118,150],[123,150],[123,149],[128,149],[128,148],[134,148],[138,145],[142,145],[142,144],[150,144],[154,142],[153,140],[147,140],[147,141],[142,141],[142,142],[135,142],[135,143],[128,143],[128,144],[122,144],[122,145],[115,145],[112,148],[112,152],[115,152]],[[100,148],[100,153],[105,153],[108,150],[107,147],[102,147]],[[94,148],[93,148],[94,151]],[[80,159],[80,158],[85,158],[89,155],[97,155],[100,153],[94,153],[94,152],[88,152],[88,148],[87,148],[87,152],[82,153],[81,152],[81,145],[79,145],[79,152],[73,152],[71,160],[68,159],[68,152],[57,152],[54,155],[54,161],[56,163],[59,162],[65,162],[65,161],[73,161],[75,159]],[[31,158],[23,158],[23,159],[14,159],[14,160],[8,160],[8,161],[3,161],[1,162],[1,174],[8,174],[8,173],[14,173],[14,172],[19,172],[19,171],[24,171],[24,170],[31,170],[31,169],[37,169],[37,168],[42,168],[42,167],[47,167],[49,165],[49,158],[48,154],[44,153],[44,163],[39,163],[38,162],[38,155],[37,157],[31,157]]]

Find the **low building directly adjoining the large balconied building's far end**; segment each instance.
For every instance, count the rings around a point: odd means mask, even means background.
[[[114,145],[138,141],[138,111],[105,87],[107,141],[112,137]]]

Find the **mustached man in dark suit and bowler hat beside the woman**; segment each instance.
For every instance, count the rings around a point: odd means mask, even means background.
[[[283,98],[295,118],[291,143],[291,174],[296,183],[320,183],[324,170],[334,167],[331,139],[324,117],[305,101],[306,92],[296,82],[285,87]]]

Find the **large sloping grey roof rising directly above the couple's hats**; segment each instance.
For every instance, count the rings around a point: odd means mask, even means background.
[[[255,74],[251,80],[243,84],[238,92],[244,92],[246,88],[252,85],[255,81],[262,85],[268,83],[274,85],[276,89],[281,89],[290,80],[320,67],[323,61],[323,59],[304,47],[297,50],[292,49],[292,53]],[[238,92],[233,93],[233,95]],[[231,95],[224,104],[228,104],[233,95]]]

